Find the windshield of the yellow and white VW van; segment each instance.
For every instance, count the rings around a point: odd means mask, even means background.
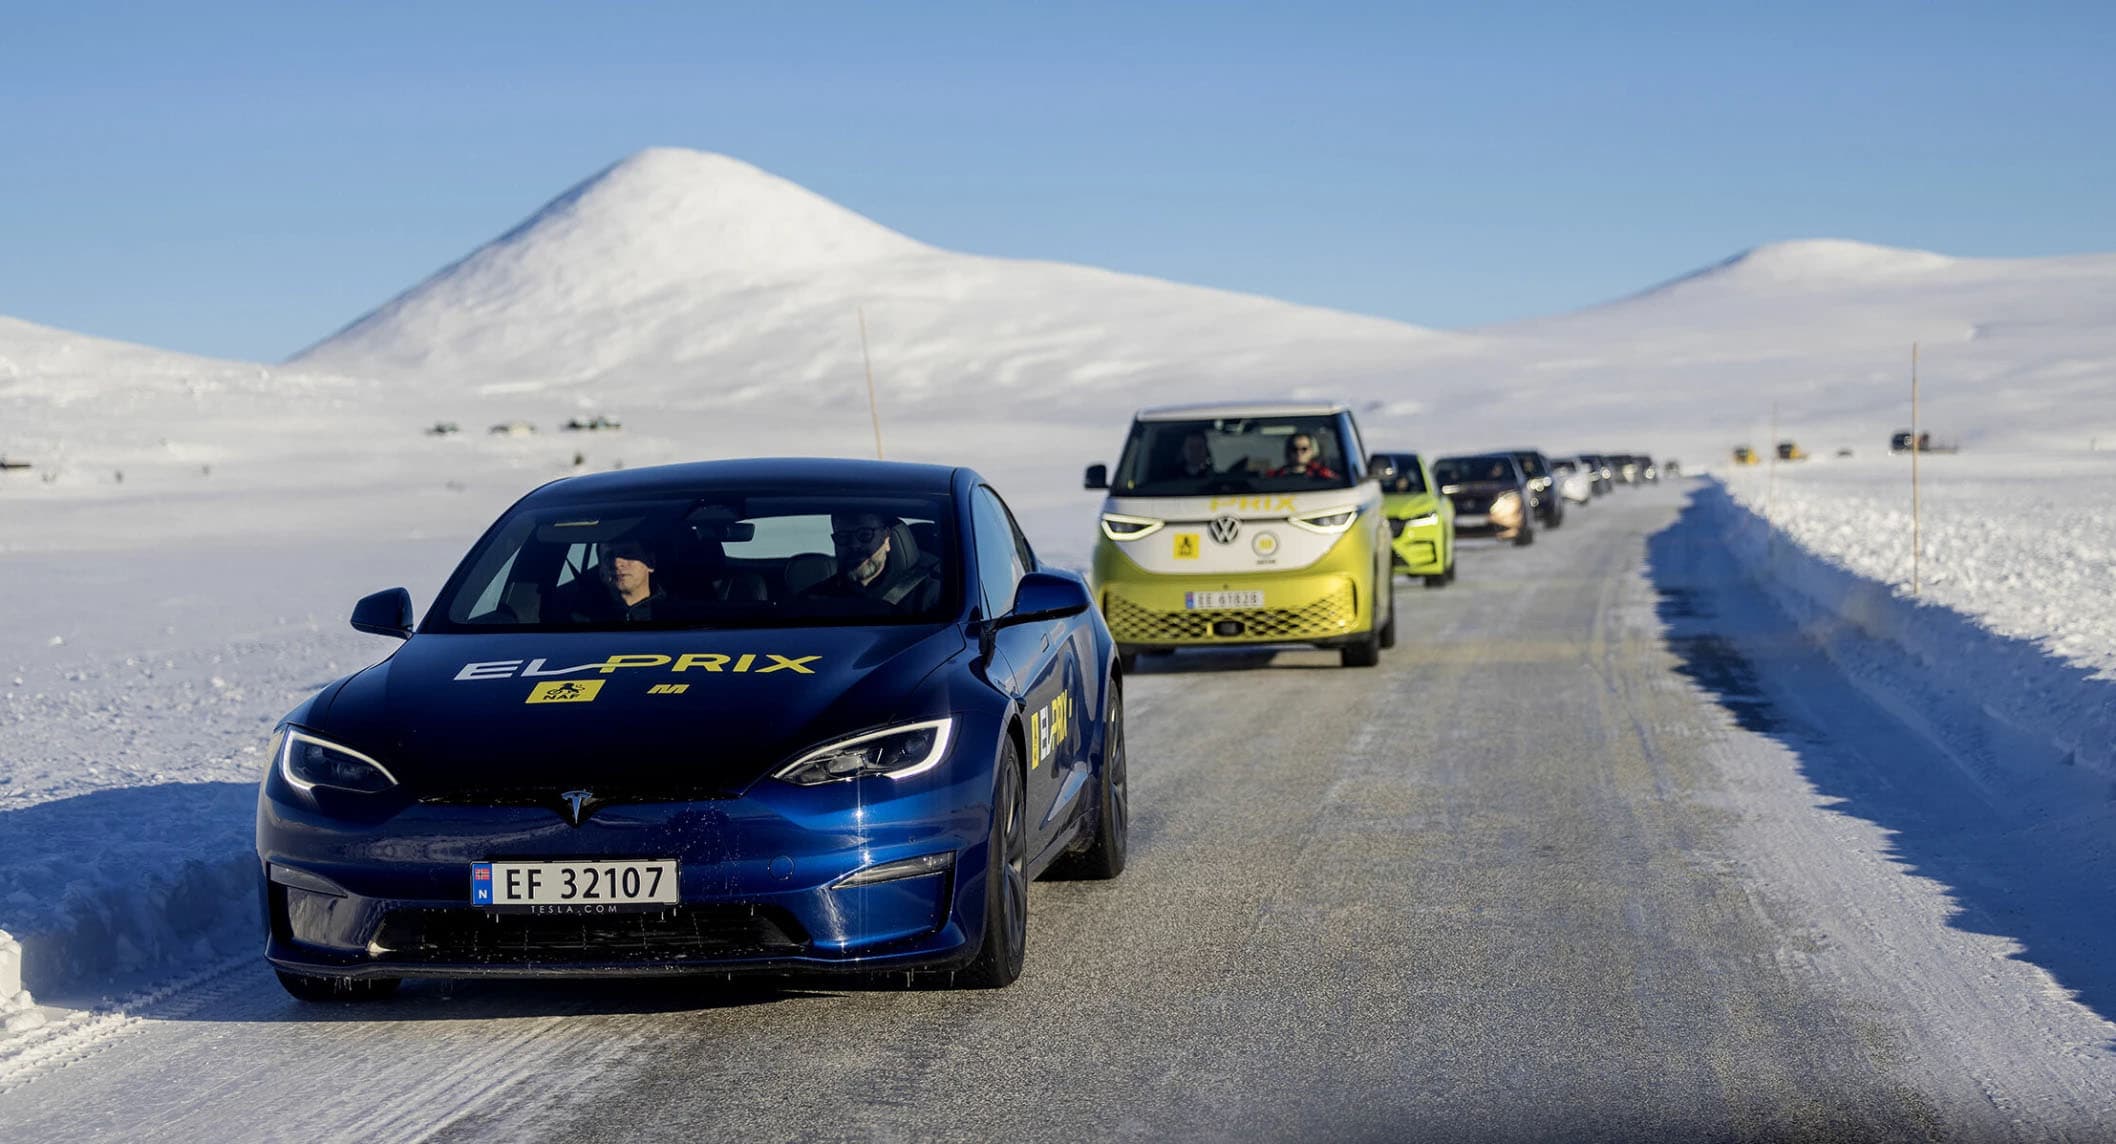
[[[1198,497],[1215,493],[1308,493],[1350,488],[1350,465],[1335,417],[1229,417],[1215,421],[1134,421],[1124,442],[1119,497]]]

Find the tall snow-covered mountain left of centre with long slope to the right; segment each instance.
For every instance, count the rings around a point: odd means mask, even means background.
[[[1098,408],[1337,383],[1466,338],[1267,298],[935,250],[747,163],[647,150],[294,357],[631,408],[863,400]]]

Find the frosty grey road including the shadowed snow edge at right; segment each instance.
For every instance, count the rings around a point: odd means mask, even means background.
[[[8,1140],[2042,1140],[2116,1123],[2108,782],[1792,639],[1689,491],[1399,588],[1378,670],[1149,660],[1132,869],[1003,992],[229,962],[0,1064]],[[317,672],[322,677],[322,670]],[[1902,698],[1907,696],[1907,698]]]

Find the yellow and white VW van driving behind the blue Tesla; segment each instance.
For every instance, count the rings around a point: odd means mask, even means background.
[[[1141,410],[1105,488],[1094,592],[1124,668],[1179,647],[1397,643],[1382,486],[1342,404]]]

